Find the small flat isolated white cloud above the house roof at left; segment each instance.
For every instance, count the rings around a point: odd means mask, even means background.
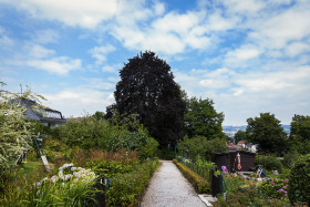
[[[81,60],[60,56],[50,60],[29,60],[27,61],[27,65],[50,73],[66,75],[70,71],[79,70],[81,68]]]

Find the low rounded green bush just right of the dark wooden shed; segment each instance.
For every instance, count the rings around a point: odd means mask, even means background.
[[[282,163],[275,156],[255,156],[255,164],[262,165],[265,169],[282,172]]]

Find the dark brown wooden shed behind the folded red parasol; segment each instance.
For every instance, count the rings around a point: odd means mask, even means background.
[[[238,153],[240,155],[241,169],[238,169]],[[213,162],[216,163],[218,167],[226,166],[229,173],[252,172],[255,170],[255,155],[256,153],[247,151],[217,153],[215,154]]]

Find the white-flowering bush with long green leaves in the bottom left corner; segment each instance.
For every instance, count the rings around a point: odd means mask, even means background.
[[[89,206],[95,203],[96,176],[90,169],[63,165],[58,175],[33,184],[10,185],[0,206]]]

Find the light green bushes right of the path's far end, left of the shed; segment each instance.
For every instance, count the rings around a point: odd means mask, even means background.
[[[204,136],[196,136],[193,138],[185,137],[177,143],[177,148],[182,156],[190,159],[195,159],[197,155],[204,159],[210,159],[214,153],[225,153],[227,151],[224,139],[214,138],[208,141]]]

